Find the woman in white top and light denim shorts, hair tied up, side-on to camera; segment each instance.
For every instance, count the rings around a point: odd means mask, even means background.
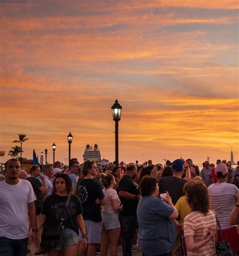
[[[113,186],[116,184],[113,175],[107,174],[101,178],[104,185],[103,192],[106,198],[106,204],[102,209],[102,242],[101,256],[107,256],[108,246],[110,256],[117,255],[117,243],[120,238],[120,221],[118,220],[118,211],[122,210],[120,198]]]

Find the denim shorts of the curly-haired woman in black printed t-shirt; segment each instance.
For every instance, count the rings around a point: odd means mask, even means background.
[[[70,228],[65,228],[62,230],[62,233],[61,233],[61,241],[62,243],[58,245],[55,248],[55,250],[64,250],[73,245],[77,245],[79,242],[79,239],[78,239],[77,233],[74,230]]]

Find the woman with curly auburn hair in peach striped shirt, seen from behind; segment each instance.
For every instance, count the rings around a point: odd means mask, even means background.
[[[184,219],[184,236],[187,254],[210,256],[216,253],[215,232],[216,217],[209,209],[207,187],[198,181],[189,181],[184,185],[184,193],[192,210]]]

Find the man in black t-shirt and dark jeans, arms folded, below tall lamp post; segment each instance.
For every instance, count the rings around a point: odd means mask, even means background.
[[[123,233],[123,254],[132,255],[132,242],[135,236],[137,222],[137,206],[140,199],[139,184],[134,181],[137,167],[135,164],[129,164],[126,168],[126,173],[118,184],[118,191],[123,210],[121,218],[124,224]]]

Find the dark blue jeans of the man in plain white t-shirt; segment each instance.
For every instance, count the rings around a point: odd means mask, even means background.
[[[28,246],[28,237],[23,239],[10,239],[0,237],[0,255],[1,256],[26,256]]]

